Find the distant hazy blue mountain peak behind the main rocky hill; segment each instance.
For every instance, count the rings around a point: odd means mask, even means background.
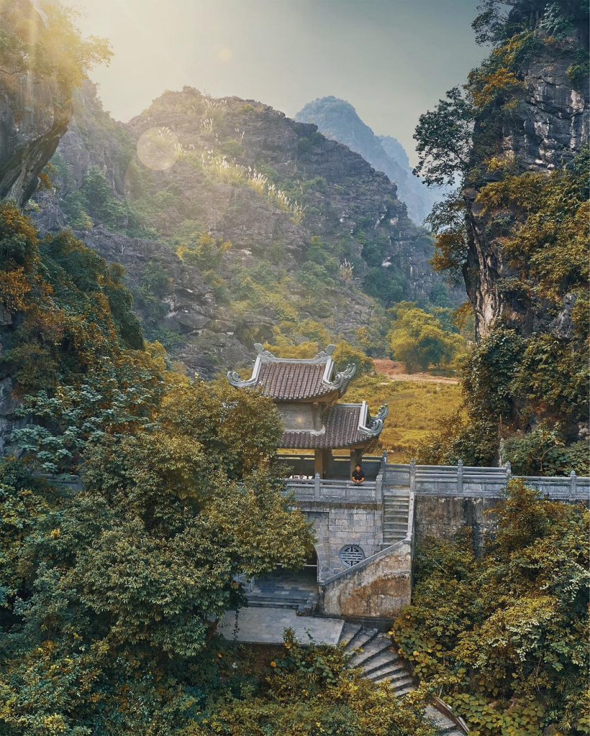
[[[399,141],[388,135],[375,135],[349,102],[333,96],[315,99],[297,113],[295,120],[316,124],[323,135],[348,146],[374,169],[387,174],[414,222],[423,222],[440,199],[438,188],[429,189],[413,176],[410,160]]]

